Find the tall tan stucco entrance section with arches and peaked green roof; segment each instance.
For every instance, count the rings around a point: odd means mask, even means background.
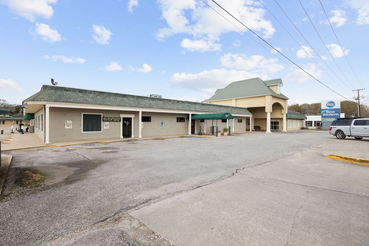
[[[207,102],[217,105],[245,107],[251,112],[248,127],[266,132],[297,130],[304,126],[306,117],[287,110],[287,98],[280,93],[281,79],[263,81],[260,78],[233,82],[215,91]]]

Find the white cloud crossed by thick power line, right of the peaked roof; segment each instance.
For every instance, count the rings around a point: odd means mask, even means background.
[[[283,82],[299,82],[299,83],[302,83],[302,82],[305,82],[307,80],[312,80],[313,79],[307,73],[305,73],[303,70],[299,69],[298,67],[295,67],[295,68],[300,73],[291,68],[291,72],[287,73],[287,76],[284,77],[284,79],[282,79]],[[317,79],[322,77],[323,70],[318,69],[315,66],[314,63],[308,63],[307,65],[302,66],[302,68],[304,70],[306,70],[306,72],[310,73],[311,75],[313,75]]]

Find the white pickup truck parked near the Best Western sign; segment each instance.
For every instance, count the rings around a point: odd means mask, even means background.
[[[330,127],[330,134],[338,139],[345,139],[346,136],[362,139],[369,137],[369,118],[338,118]]]

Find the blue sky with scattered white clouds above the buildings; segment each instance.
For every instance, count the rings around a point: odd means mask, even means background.
[[[369,99],[368,0],[321,0],[345,53],[319,0],[300,0],[308,15],[299,0],[215,0],[343,97],[204,1],[229,21],[201,0],[0,0],[0,98],[21,104],[53,78],[58,86],[203,101],[260,77],[281,78],[289,104],[353,100],[351,90],[363,87]]]

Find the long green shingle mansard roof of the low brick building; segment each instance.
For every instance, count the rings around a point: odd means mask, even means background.
[[[24,100],[27,101],[52,101],[62,103],[98,104],[138,108],[158,108],[168,110],[186,110],[194,112],[216,112],[231,114],[249,114],[247,108],[216,105],[210,103],[195,103],[165,98],[135,96],[128,94],[112,93],[76,89],[61,86],[43,85],[41,90]]]

